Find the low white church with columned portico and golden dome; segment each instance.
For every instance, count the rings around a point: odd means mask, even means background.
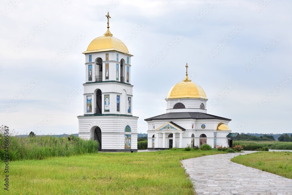
[[[232,134],[228,127],[231,119],[207,113],[206,93],[188,78],[187,71],[185,79],[171,87],[165,100],[165,114],[145,119],[149,150],[203,144],[212,148],[221,145],[232,147]]]

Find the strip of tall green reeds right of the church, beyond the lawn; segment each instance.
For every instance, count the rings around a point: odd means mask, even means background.
[[[238,141],[236,141],[238,144]],[[267,147],[272,150],[292,150],[292,142],[282,141],[239,141],[244,150],[258,150]]]

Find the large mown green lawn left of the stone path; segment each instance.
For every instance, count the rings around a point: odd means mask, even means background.
[[[180,160],[216,153],[224,152],[95,153],[13,161],[9,194],[194,194]],[[4,163],[0,175],[4,178]]]

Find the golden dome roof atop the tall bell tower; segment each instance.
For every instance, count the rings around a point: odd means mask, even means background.
[[[118,51],[120,53],[133,56],[129,53],[128,48],[120,39],[112,36],[109,29],[107,29],[107,32],[103,36],[93,39],[93,41],[88,45],[87,50],[82,54],[101,51]]]

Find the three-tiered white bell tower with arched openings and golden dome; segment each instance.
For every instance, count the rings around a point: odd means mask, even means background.
[[[133,113],[131,55],[109,31],[95,38],[85,55],[84,114],[78,116],[79,137],[99,142],[100,151],[137,151]]]

